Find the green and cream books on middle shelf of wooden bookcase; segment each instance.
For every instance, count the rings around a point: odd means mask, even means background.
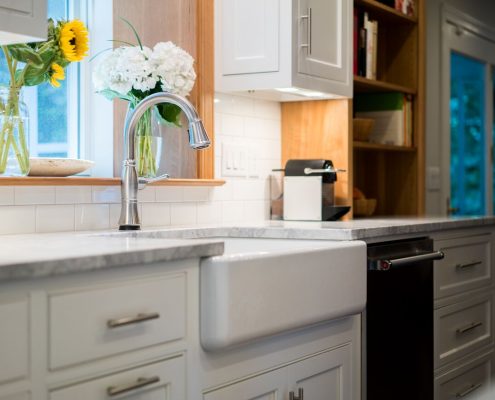
[[[390,93],[363,93],[354,98],[358,118],[375,121],[370,133],[373,143],[394,146],[413,145],[413,113],[410,95]]]

